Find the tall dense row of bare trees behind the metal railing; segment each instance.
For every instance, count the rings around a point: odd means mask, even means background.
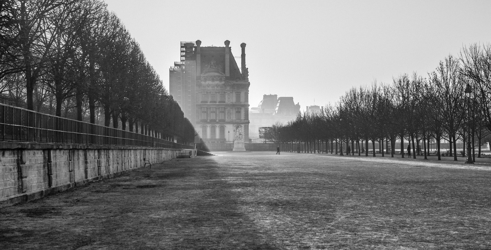
[[[5,104],[192,141],[194,129],[140,46],[100,0],[1,0]],[[145,132],[146,133],[146,132]]]

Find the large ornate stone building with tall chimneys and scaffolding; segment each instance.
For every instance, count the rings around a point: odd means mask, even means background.
[[[225,47],[181,42],[181,60],[169,70],[169,93],[205,143],[232,142],[239,127],[249,142],[246,44],[241,44],[241,68],[229,45],[228,40]]]

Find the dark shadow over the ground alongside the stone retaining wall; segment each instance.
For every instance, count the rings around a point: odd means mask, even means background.
[[[137,168],[0,210],[0,249],[275,250],[213,157]]]

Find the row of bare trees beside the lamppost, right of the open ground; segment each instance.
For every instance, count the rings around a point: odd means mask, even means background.
[[[469,97],[464,93],[466,87],[472,90]],[[467,141],[470,134],[472,145],[477,140],[480,157],[481,144],[489,140],[491,131],[491,44],[464,47],[459,58],[446,57],[427,78],[402,74],[391,84],[374,82],[352,88],[321,112],[299,114],[287,124],[274,124],[269,131],[269,139],[284,143],[284,150],[298,152],[312,148],[315,152],[316,147],[332,152],[333,145],[337,149],[340,143],[344,150],[350,146],[358,155],[364,151],[368,156],[363,148],[371,143],[372,149],[379,145],[382,156],[390,151],[394,157],[396,143],[400,143],[404,158],[406,141],[413,158],[424,155],[427,159],[432,141],[438,160],[440,141],[446,140],[449,152],[444,153],[456,161],[459,153],[466,154],[465,147],[457,152],[457,141]],[[374,157],[375,153],[373,150]]]

